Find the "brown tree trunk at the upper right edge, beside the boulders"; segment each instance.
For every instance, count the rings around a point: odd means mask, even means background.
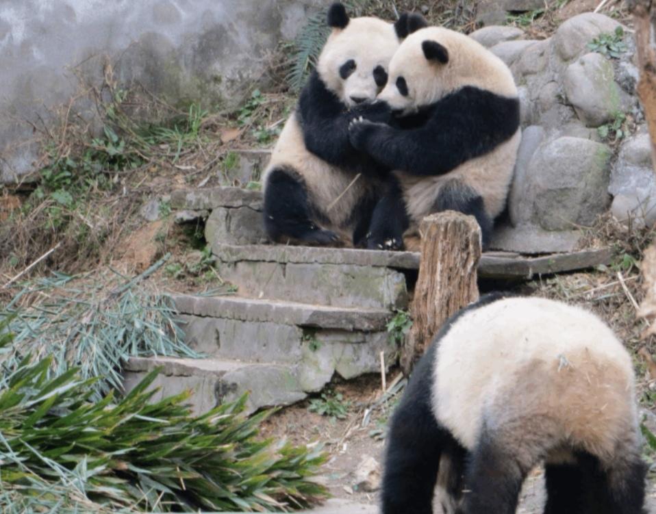
[[[655,16],[651,0],[629,1],[629,9],[635,23],[635,46],[638,51],[638,96],[644,107],[651,136],[652,166],[656,164],[656,48],[653,45]]]

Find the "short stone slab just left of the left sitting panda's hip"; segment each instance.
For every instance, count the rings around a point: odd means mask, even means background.
[[[192,211],[212,210],[218,207],[231,209],[250,207],[262,211],[262,202],[262,193],[260,191],[243,188],[179,189],[171,193],[171,207],[173,209]]]

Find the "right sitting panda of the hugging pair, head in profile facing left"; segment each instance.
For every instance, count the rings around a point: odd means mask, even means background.
[[[518,146],[520,103],[508,67],[464,34],[427,27],[417,14],[397,23],[405,38],[378,100],[399,126],[354,116],[351,144],[396,170],[373,214],[369,248],[400,249],[428,214],[475,216],[490,240],[505,208]]]

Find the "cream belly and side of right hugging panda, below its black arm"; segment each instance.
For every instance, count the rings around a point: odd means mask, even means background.
[[[512,138],[490,153],[469,159],[444,175],[418,177],[396,171],[410,218],[417,224],[431,214],[440,190],[453,180],[461,181],[477,192],[492,218],[499,216],[505,208],[520,140],[521,131],[518,129]]]

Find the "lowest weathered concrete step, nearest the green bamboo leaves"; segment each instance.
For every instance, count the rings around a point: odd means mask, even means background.
[[[247,391],[249,412],[292,404],[307,396],[293,366],[172,357],[131,357],[123,372],[125,389],[131,390],[155,368],[162,370],[151,386],[160,388],[153,400],[190,389],[194,413],[206,412],[221,402],[234,401]]]

